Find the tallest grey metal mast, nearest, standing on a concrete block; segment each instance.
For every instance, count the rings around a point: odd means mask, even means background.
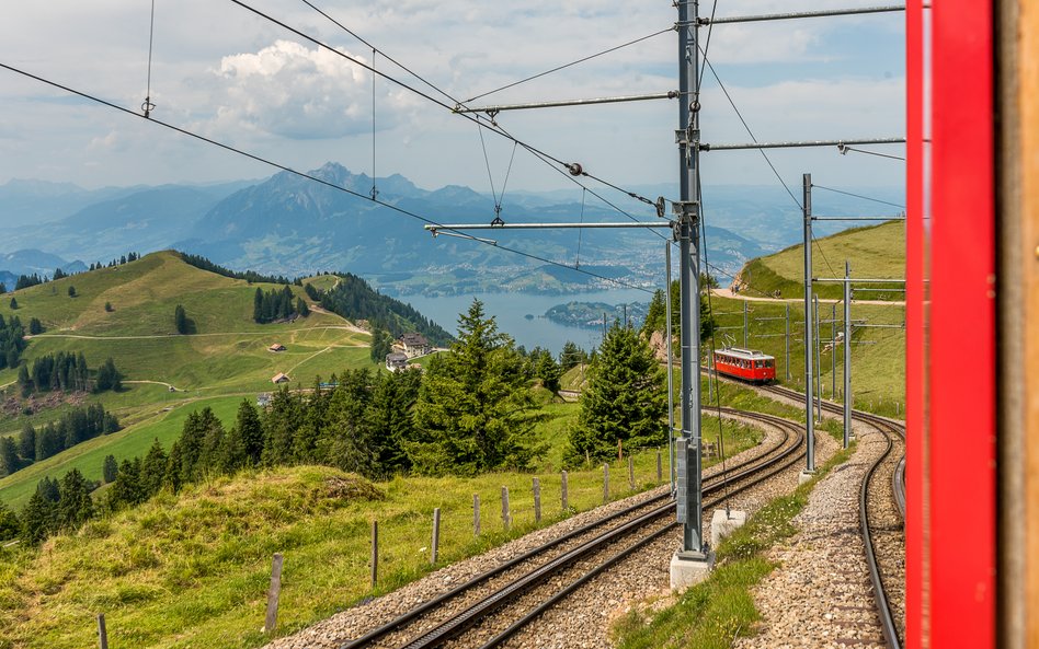
[[[682,315],[682,440],[678,445],[678,521],[685,523],[682,552],[701,558],[704,543],[700,485],[700,300],[699,300],[699,48],[698,0],[678,0],[678,190],[675,204]],[[684,470],[684,471],[683,471]],[[695,555],[695,556],[693,556]]]

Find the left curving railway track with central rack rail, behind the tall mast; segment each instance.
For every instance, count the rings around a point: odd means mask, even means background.
[[[804,456],[797,424],[723,408],[779,431],[777,441],[750,460],[704,478],[704,510],[767,480]],[[498,647],[545,611],[639,549],[674,532],[671,496],[649,498],[533,548],[411,611],[372,628],[342,649]]]

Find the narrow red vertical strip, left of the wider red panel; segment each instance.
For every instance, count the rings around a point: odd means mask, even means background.
[[[924,557],[927,528],[924,462],[924,8],[905,4],[905,649],[923,649]],[[929,613],[929,611],[927,612]]]

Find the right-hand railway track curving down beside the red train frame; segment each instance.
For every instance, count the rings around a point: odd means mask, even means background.
[[[787,387],[763,387],[788,398],[804,398]],[[843,407],[825,401],[822,408],[844,414]],[[853,410],[852,418],[874,428],[883,440],[859,490],[859,525],[884,641],[890,649],[901,649],[905,634],[905,426],[860,410]]]

